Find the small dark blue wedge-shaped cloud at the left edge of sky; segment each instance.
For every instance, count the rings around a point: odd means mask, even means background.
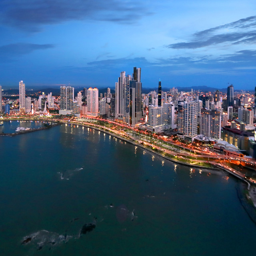
[[[17,44],[6,44],[0,46],[0,61],[11,61],[15,57],[29,54],[35,50],[45,50],[49,48],[54,48],[53,44],[26,44],[26,43],[17,43]]]

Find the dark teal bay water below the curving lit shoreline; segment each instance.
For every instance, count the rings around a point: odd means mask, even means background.
[[[254,255],[256,225],[223,172],[70,124],[0,136],[0,156],[0,255]]]

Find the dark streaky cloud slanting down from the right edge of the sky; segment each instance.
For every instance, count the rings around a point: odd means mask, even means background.
[[[232,44],[254,44],[256,42],[256,16],[210,28],[192,35],[190,42],[169,44],[172,49],[195,49],[232,42]]]

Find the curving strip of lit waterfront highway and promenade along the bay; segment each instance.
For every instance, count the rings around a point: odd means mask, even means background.
[[[152,138],[150,136],[146,136],[143,134],[141,136],[138,132],[135,132],[134,129],[125,126],[123,124],[118,124],[114,121],[106,121],[103,122],[102,119],[99,120],[96,118],[72,118],[71,120],[63,119],[63,118],[50,118],[47,116],[43,116],[40,118],[35,117],[9,117],[8,119],[3,120],[34,120],[34,121],[48,121],[48,122],[56,122],[57,124],[71,124],[77,126],[85,126],[88,128],[92,128],[95,130],[99,130],[101,132],[105,132],[106,134],[112,135],[120,140],[124,140],[127,143],[134,144],[135,146],[139,146],[152,154],[156,154],[165,160],[172,161],[177,164],[183,164],[186,166],[191,166],[192,170],[194,168],[206,168],[209,170],[220,169],[225,170],[232,176],[243,180],[248,184],[248,188],[250,188],[250,184],[256,184],[256,178],[247,177],[242,172],[235,170],[230,166],[231,163],[238,162],[244,164],[250,164],[252,168],[256,169],[256,161],[251,159],[245,159],[240,157],[232,157],[228,158],[228,156],[215,154],[213,152],[205,152],[204,150],[195,150],[192,148],[188,148],[185,145],[174,142],[160,142],[159,139]],[[48,128],[48,127],[46,127]],[[44,128],[42,128],[44,129]],[[39,129],[37,129],[39,130]],[[28,130],[25,132],[31,132],[34,130]],[[20,132],[21,133],[21,132]],[[20,134],[18,133],[18,134]],[[16,134],[15,134],[16,135]]]

